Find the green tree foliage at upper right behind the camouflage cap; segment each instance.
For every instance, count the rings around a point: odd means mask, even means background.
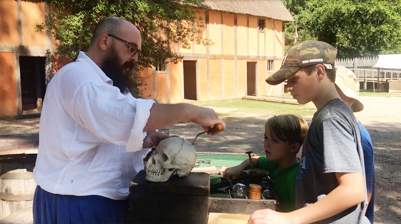
[[[297,21],[299,41],[327,42],[338,58],[401,53],[399,0],[282,0]],[[287,49],[295,25],[286,25]]]

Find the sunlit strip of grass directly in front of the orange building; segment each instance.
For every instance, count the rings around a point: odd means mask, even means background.
[[[273,103],[255,100],[239,100],[233,102],[223,102],[214,104],[205,104],[204,107],[222,108],[217,112],[224,117],[240,116],[242,114],[255,115],[280,115],[280,114],[298,114],[304,117],[313,116],[316,108],[313,105],[292,105],[284,103]],[[224,108],[224,109],[223,109]],[[220,112],[221,111],[221,112]]]

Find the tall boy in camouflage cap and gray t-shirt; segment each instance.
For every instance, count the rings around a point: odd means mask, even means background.
[[[337,93],[337,49],[319,41],[292,47],[279,71],[266,82],[287,79],[287,91],[300,104],[317,108],[302,148],[295,206],[280,213],[255,211],[249,223],[369,223],[361,136],[355,117]]]

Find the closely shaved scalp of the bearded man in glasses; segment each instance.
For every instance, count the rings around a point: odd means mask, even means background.
[[[106,17],[101,20],[93,32],[91,45],[95,43],[102,34],[112,34],[118,36],[121,30],[122,24],[127,23],[126,20],[119,17]]]

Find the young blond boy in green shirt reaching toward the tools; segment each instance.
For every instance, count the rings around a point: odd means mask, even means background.
[[[308,124],[296,115],[279,115],[267,120],[263,134],[265,156],[252,158],[255,168],[267,170],[280,199],[280,211],[295,210],[295,180],[299,167],[297,153],[304,143]],[[238,166],[221,169],[223,178],[235,179],[251,168],[249,159]]]

